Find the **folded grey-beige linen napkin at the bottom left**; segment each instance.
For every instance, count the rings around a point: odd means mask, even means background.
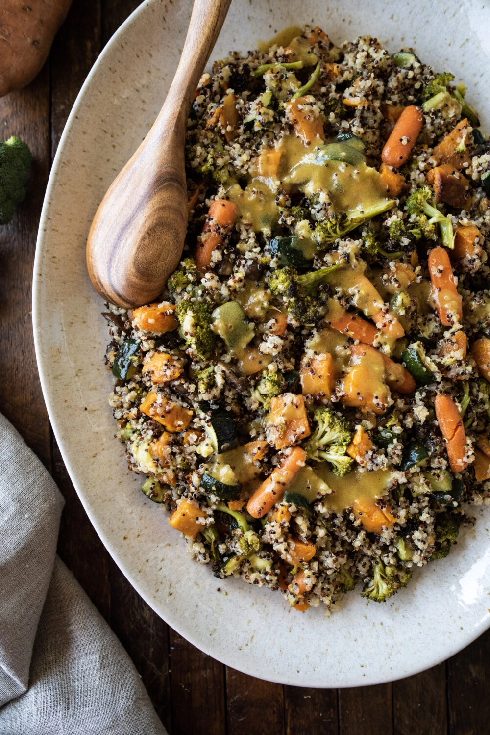
[[[0,415],[0,733],[166,735],[128,654],[55,556],[62,506]]]

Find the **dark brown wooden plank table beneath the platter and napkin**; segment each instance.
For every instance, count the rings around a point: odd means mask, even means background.
[[[34,155],[29,196],[12,223],[0,226],[0,410],[65,495],[59,556],[128,650],[172,735],[486,735],[490,631],[445,663],[392,684],[335,690],[260,681],[224,667],[172,631],[122,576],[78,500],[37,375],[34,248],[67,115],[100,50],[137,5],[136,0],[74,0],[37,79],[0,99],[0,139],[18,135]],[[402,621],[399,640],[403,647]]]

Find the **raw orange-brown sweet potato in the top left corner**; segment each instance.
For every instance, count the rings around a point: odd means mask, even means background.
[[[0,97],[32,82],[48,58],[71,0],[3,0],[0,4]]]

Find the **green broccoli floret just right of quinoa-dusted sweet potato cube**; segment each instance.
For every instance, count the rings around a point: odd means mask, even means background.
[[[315,409],[313,419],[317,426],[304,451],[315,462],[330,462],[334,475],[342,477],[351,471],[354,462],[345,453],[353,436],[351,425],[330,406]]]

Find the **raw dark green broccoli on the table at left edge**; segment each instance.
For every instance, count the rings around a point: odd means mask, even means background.
[[[0,225],[14,216],[15,207],[26,198],[26,183],[32,154],[27,143],[17,137],[0,140]]]

